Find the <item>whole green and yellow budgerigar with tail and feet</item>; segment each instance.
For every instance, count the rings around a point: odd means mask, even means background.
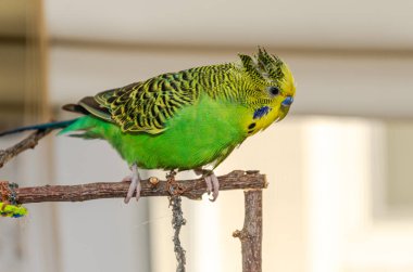
[[[135,191],[140,196],[138,168],[196,170],[214,200],[218,182],[213,170],[248,137],[281,120],[296,93],[292,74],[279,57],[261,48],[239,57],[103,91],[63,107],[83,114],[79,118],[0,135],[52,128],[108,141],[132,167],[126,203]]]

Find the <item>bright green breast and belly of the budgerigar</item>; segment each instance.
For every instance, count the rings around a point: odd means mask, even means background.
[[[166,122],[159,134],[122,133],[93,117],[90,132],[109,141],[128,164],[146,169],[193,169],[227,156],[247,137],[250,113],[242,106],[203,95]],[[89,125],[90,126],[90,125]]]

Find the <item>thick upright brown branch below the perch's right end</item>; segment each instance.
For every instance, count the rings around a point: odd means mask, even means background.
[[[262,190],[245,191],[243,228],[233,236],[241,241],[242,272],[262,271]]]

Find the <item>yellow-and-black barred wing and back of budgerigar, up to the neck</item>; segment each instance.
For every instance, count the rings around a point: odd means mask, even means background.
[[[98,93],[64,108],[91,114],[116,124],[123,132],[161,133],[182,108],[193,105],[200,92],[215,98],[227,80],[231,64],[163,74],[146,81]],[[217,75],[216,75],[217,74]],[[213,77],[220,79],[213,79]],[[211,80],[209,80],[211,79]],[[227,95],[224,93],[224,95]]]

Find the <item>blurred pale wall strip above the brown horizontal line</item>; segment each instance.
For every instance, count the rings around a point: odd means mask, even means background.
[[[46,8],[48,27],[57,39],[214,47],[413,47],[409,0],[47,0]]]

